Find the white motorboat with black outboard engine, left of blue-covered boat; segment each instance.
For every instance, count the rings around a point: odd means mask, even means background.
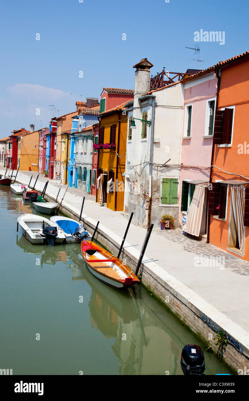
[[[66,238],[61,229],[43,216],[25,213],[18,217],[17,222],[22,228],[24,237],[32,244],[60,244]]]

